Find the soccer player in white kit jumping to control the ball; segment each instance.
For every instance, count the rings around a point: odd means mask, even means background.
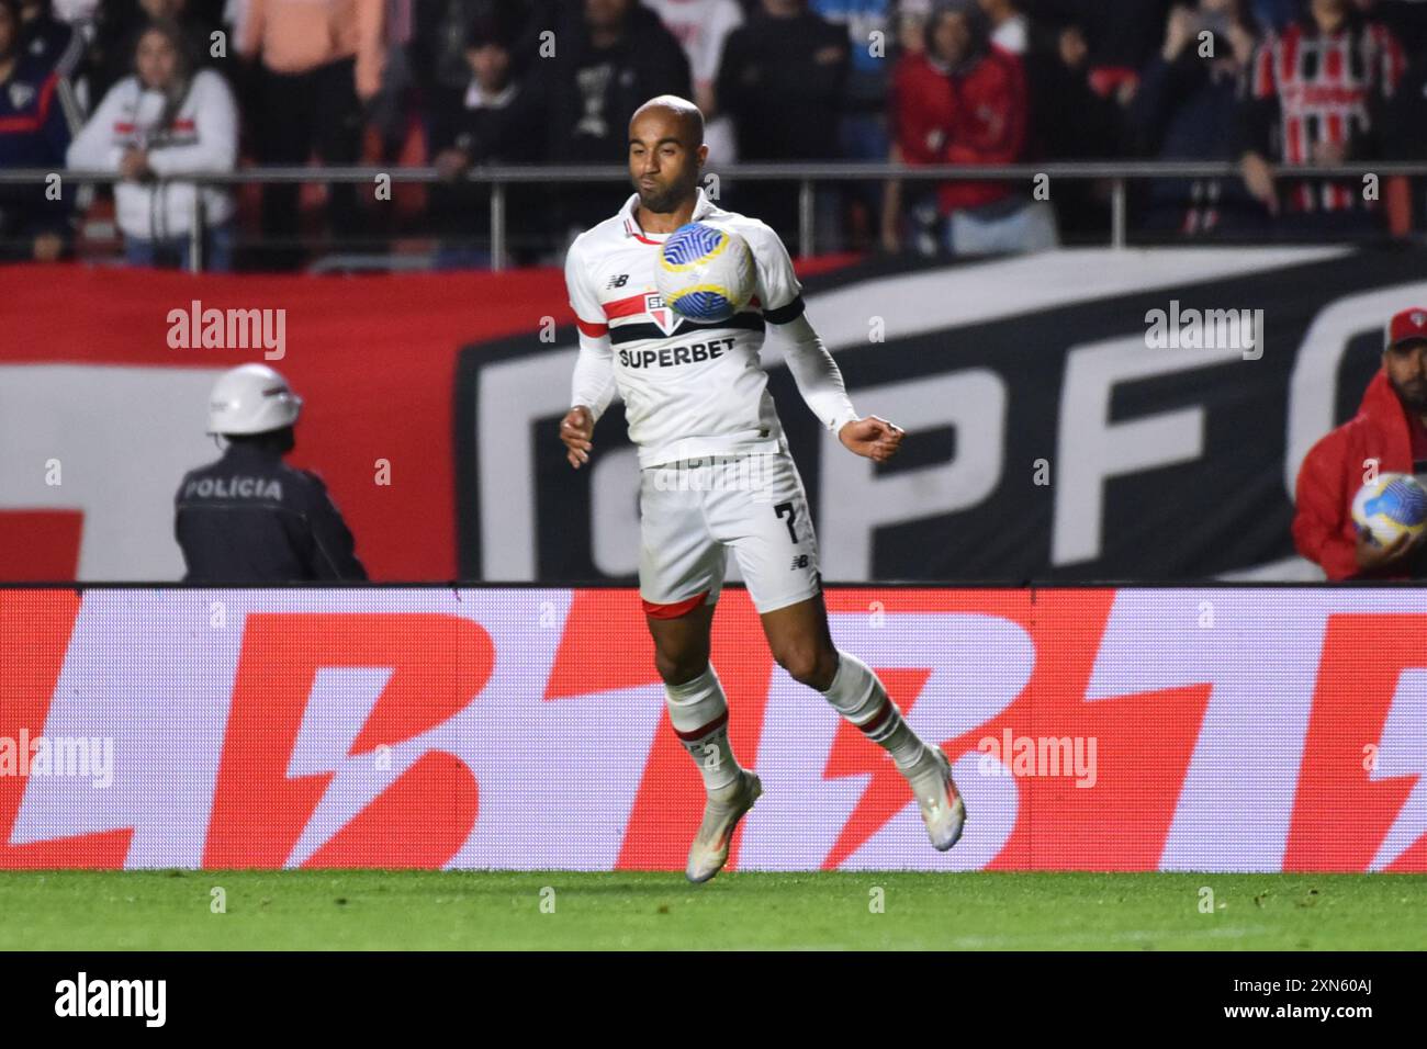
[[[788,250],[762,221],[705,196],[699,170],[706,158],[704,116],[691,101],[658,96],[635,110],[629,177],[636,193],[619,214],[577,237],[565,260],[579,358],[559,425],[567,458],[579,470],[618,390],[639,448],[639,595],[669,721],[708,794],[685,873],[704,882],[723,868],[738,821],[762,794],[729,746],[728,704],[709,665],[725,547],[738,557],[773,658],[892,755],[932,845],[949,849],[966,818],[950,762],[912,732],[876,674],[832,644],[808,500],[759,364],[765,325],[781,335],[808,407],[849,451],[885,462],[903,431],[856,414],[803,313]],[[655,290],[659,245],[691,221],[735,230],[753,253],[755,298],[726,321],[682,318]]]

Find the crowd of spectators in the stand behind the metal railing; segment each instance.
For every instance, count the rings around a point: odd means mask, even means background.
[[[300,264],[323,233],[382,253],[422,235],[438,264],[479,265],[489,188],[464,171],[619,164],[629,116],[664,93],[709,118],[712,171],[1224,160],[1240,177],[1137,191],[1136,230],[1424,228],[1423,180],[1276,176],[1427,158],[1427,0],[0,0],[0,168],[123,177],[111,206],[107,191],[0,186],[0,251],[103,254],[111,214],[131,263],[180,264],[200,191],[177,176],[431,164],[447,180],[400,186],[394,207],[355,184],[204,188],[205,264],[233,265],[243,225],[263,267]],[[796,243],[796,186],[731,190],[729,207]],[[622,196],[509,187],[514,261],[558,260]],[[1103,240],[1107,210],[1095,181],[1049,200],[989,181],[841,183],[818,193],[818,248],[1032,251]]]

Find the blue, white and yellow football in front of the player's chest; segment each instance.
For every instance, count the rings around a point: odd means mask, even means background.
[[[726,321],[753,297],[753,253],[732,230],[686,223],[659,248],[664,304],[691,321]]]

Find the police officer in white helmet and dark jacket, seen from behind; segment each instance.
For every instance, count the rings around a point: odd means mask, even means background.
[[[265,364],[224,373],[208,401],[208,432],[227,440],[217,462],[178,487],[174,532],[186,582],[365,579],[352,534],[321,480],[283,462],[303,398]]]

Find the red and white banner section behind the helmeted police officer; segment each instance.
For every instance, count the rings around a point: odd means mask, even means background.
[[[549,350],[557,325],[568,360],[551,390],[568,402],[577,347],[559,267],[341,278],[0,268],[0,579],[181,578],[174,492],[218,457],[208,391],[255,361],[305,398],[290,461],[327,481],[371,578],[452,579],[462,351]],[[557,450],[555,425],[545,432]]]

